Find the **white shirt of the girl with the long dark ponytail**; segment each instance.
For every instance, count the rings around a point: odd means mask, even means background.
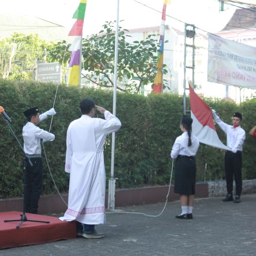
[[[195,156],[199,147],[199,141],[191,134],[192,145],[188,147],[188,132],[183,132],[181,136],[177,137],[172,148],[171,158],[177,158],[180,155]]]

